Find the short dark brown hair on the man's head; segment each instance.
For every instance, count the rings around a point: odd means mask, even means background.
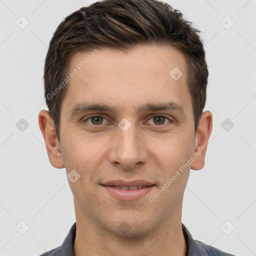
[[[52,92],[65,79],[71,56],[92,47],[125,51],[145,43],[172,45],[186,56],[196,131],[205,105],[208,78],[199,32],[182,13],[158,0],[103,0],[68,15],[51,38],[43,75],[44,96],[58,140],[66,87],[61,86],[54,96]]]

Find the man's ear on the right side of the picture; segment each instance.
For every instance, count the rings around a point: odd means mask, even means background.
[[[204,166],[205,153],[206,153],[211,130],[212,130],[212,113],[207,110],[202,112],[197,130],[195,133],[194,155],[197,155],[198,157],[191,164],[191,169],[193,170],[200,170]]]

